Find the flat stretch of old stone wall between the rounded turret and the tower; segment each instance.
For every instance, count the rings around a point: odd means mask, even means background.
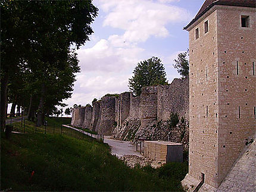
[[[171,113],[189,119],[189,78],[174,78],[168,85],[158,85],[157,120],[166,121]]]

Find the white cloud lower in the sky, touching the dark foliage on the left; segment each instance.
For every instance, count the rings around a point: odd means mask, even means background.
[[[137,64],[143,49],[136,46],[118,47],[121,42],[111,37],[109,39],[101,39],[92,48],[77,51],[82,71],[117,72]]]

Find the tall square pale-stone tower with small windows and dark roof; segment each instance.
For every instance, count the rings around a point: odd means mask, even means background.
[[[207,0],[189,32],[189,174],[217,188],[255,134],[254,0]],[[198,187],[199,188],[199,187]]]

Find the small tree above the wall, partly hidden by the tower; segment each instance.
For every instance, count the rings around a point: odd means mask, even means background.
[[[189,75],[189,51],[179,53],[177,59],[174,59],[175,64],[173,67],[177,69],[178,73],[182,75],[182,77],[187,77]]]

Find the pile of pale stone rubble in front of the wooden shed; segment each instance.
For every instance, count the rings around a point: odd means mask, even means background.
[[[162,161],[157,162],[149,158],[139,157],[137,155],[124,155],[121,156],[119,159],[123,160],[124,163],[126,163],[126,165],[129,166],[130,168],[134,168],[135,166],[138,165],[141,167],[151,165],[152,168],[158,168],[164,165],[164,163],[166,163]]]

